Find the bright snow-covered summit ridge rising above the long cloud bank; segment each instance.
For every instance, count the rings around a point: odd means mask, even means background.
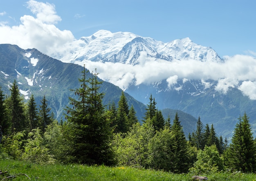
[[[195,44],[189,38],[164,43],[133,33],[111,33],[106,30],[100,30],[90,37],[82,37],[74,41],[69,51],[56,58],[63,62],[78,63],[90,60],[135,65],[138,64],[141,52],[146,52],[148,57],[167,61],[172,61],[173,58],[222,61],[211,47]]]

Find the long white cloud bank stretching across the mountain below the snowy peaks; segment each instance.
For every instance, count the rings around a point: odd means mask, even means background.
[[[145,57],[143,57],[145,56]],[[111,82],[122,89],[130,84],[154,84],[166,80],[169,88],[177,91],[182,89],[177,80],[201,80],[205,88],[209,88],[209,80],[217,81],[216,91],[226,94],[230,88],[237,87],[244,95],[256,100],[256,59],[248,55],[235,55],[225,57],[225,61],[200,62],[197,60],[155,60],[141,53],[139,59],[145,60],[143,64],[112,63],[112,62],[74,62],[85,64],[89,70],[100,73],[99,77]]]

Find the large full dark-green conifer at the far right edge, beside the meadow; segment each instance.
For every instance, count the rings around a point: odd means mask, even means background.
[[[242,172],[255,172],[256,147],[252,137],[252,129],[246,113],[238,118],[229,150],[229,164]]]

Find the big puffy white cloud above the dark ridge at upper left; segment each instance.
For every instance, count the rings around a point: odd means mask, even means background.
[[[0,24],[0,43],[17,44],[22,49],[36,48],[47,55],[53,55],[72,41],[74,35],[71,31],[61,31],[54,23],[61,20],[56,15],[53,4],[30,0],[27,7],[36,15],[24,15],[20,18],[18,26]]]

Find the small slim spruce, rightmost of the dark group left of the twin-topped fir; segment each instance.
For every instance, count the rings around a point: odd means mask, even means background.
[[[41,100],[41,105],[39,109],[39,119],[40,119],[40,129],[42,132],[45,132],[45,128],[47,125],[52,123],[52,118],[50,115],[51,108],[48,107],[47,100],[45,98],[45,95],[43,99]]]

